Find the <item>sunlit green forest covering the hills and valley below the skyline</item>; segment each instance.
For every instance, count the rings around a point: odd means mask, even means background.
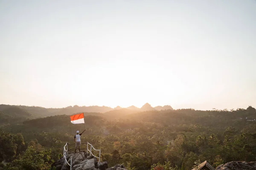
[[[57,115],[58,113],[58,115]],[[191,170],[206,161],[256,160],[256,109],[84,112],[74,125],[60,109],[0,105],[0,170],[49,170],[76,130],[109,167]],[[82,145],[82,148],[86,148]],[[54,169],[54,167],[53,167]]]

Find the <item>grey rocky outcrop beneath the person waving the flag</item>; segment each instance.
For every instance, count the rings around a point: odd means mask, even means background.
[[[72,156],[72,170],[125,170],[122,165],[116,164],[114,167],[108,168],[108,162],[99,162],[93,156],[89,156],[87,153],[70,153],[67,155],[67,162],[70,164]],[[63,158],[55,161],[52,164],[52,169],[55,170],[70,170],[70,166],[65,164]]]

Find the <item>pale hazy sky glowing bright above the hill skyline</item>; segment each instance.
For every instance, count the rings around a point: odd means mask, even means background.
[[[256,107],[256,0],[0,0],[0,104]]]

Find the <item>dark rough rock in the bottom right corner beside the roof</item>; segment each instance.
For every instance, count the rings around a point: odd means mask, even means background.
[[[256,170],[256,162],[231,161],[219,165],[216,170]]]

